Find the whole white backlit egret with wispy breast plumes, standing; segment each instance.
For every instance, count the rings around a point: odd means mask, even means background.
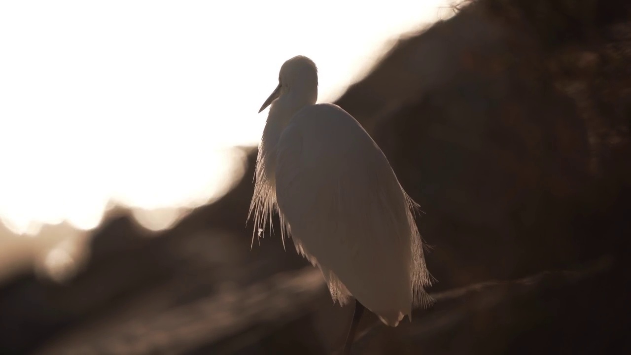
[[[274,214],[281,240],[318,267],[341,306],[355,298],[343,353],[365,309],[387,326],[427,308],[431,276],[418,232],[419,205],[360,123],[335,104],[316,104],[318,69],[306,56],[282,64],[254,173],[248,220],[261,238]],[[252,236],[252,245],[255,235]]]

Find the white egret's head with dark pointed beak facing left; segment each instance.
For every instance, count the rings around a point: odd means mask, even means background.
[[[259,113],[271,105],[280,95],[290,90],[301,92],[308,100],[313,101],[308,103],[315,104],[317,99],[317,67],[308,57],[295,56],[283,63],[280,73],[278,73],[278,86],[265,100]]]

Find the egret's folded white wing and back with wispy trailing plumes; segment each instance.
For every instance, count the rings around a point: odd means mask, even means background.
[[[331,104],[298,112],[278,141],[275,176],[283,225],[334,300],[352,294],[391,325],[427,305],[411,200],[350,114]]]

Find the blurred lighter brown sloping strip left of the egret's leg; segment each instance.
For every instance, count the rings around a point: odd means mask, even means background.
[[[271,329],[298,318],[323,286],[315,268],[285,272],[107,329],[88,327],[37,354],[185,354],[257,325]]]

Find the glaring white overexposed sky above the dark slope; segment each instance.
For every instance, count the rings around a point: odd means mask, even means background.
[[[0,218],[88,229],[109,201],[217,198],[286,59],[311,57],[334,100],[448,2],[1,1]]]

